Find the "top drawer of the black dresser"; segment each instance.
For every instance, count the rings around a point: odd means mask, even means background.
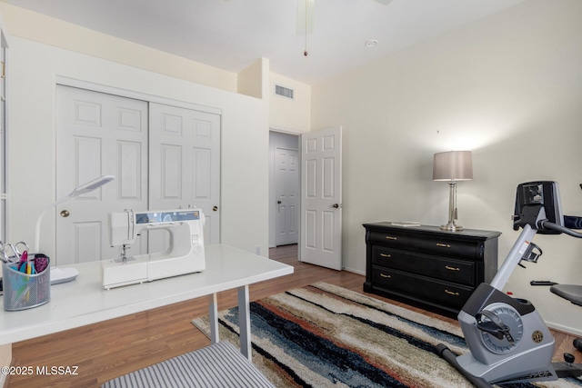
[[[370,231],[369,242],[389,248],[438,256],[476,260],[483,258],[483,244],[437,234],[406,234],[400,231]]]

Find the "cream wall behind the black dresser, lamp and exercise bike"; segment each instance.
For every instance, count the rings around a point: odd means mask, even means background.
[[[312,87],[312,127],[344,128],[344,265],[365,272],[363,223],[447,221],[436,152],[471,150],[457,186],[459,224],[497,230],[502,262],[517,184],[555,180],[582,215],[582,2],[531,0]],[[582,308],[529,281],[582,284],[582,241],[537,236],[544,255],[507,290],[547,322],[582,333]]]

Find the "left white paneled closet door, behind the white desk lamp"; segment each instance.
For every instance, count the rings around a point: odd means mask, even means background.
[[[56,199],[100,175],[116,179],[57,206],[54,263],[115,258],[107,215],[147,209],[147,103],[58,85],[56,126]]]

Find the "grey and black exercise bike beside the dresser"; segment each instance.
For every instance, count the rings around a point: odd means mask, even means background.
[[[502,289],[521,261],[537,262],[535,234],[568,234],[564,226],[556,182],[528,182],[517,186],[514,229],[522,228],[491,284],[480,284],[458,313],[469,347],[457,356],[439,343],[437,354],[477,387],[491,384],[529,383],[582,375],[582,364],[565,354],[564,363],[552,363],[555,340],[532,303],[513,298]]]

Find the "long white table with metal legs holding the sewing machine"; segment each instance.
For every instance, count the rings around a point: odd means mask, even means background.
[[[42,306],[8,312],[4,311],[4,299],[0,297],[0,310],[3,310],[0,313],[0,345],[208,295],[211,341],[217,343],[216,293],[237,289],[241,352],[250,360],[248,285],[293,274],[293,267],[224,244],[207,245],[205,250],[206,270],[198,274],[105,290],[101,262],[73,264],[70,266],[79,272],[76,279],[52,285],[51,300]]]

